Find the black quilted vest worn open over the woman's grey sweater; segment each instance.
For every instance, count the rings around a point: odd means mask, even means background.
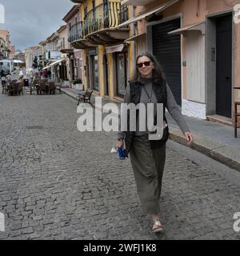
[[[163,81],[161,84],[153,83],[153,90],[154,94],[156,95],[156,98],[158,100],[158,103],[163,104],[163,118],[166,121],[166,81]],[[138,105],[140,103],[142,94],[142,84],[140,82],[130,82],[130,103],[134,103],[135,105]],[[128,118],[129,122],[129,118]],[[131,141],[133,138],[134,132],[127,131],[125,136],[125,144],[126,144],[126,150],[128,152],[130,151]]]

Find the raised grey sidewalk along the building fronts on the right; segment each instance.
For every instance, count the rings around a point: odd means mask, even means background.
[[[73,89],[62,89],[62,92],[75,99],[78,95],[78,92]],[[94,105],[94,95],[91,98],[91,102]],[[110,102],[110,100],[102,98],[102,105]],[[120,106],[120,103],[117,104]],[[176,122],[174,122],[173,118],[171,118],[168,113],[166,114],[166,118],[170,126],[170,139],[186,146],[186,140]],[[197,118],[185,117],[185,119],[194,135],[194,142],[191,145],[192,149],[240,171],[239,129],[238,138],[234,138],[233,127]]]

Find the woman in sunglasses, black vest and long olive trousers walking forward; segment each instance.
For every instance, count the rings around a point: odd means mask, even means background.
[[[134,103],[135,105],[138,103],[163,103],[165,126],[167,126],[165,117],[165,109],[167,109],[178,123],[182,133],[185,134],[188,144],[193,141],[192,134],[182,117],[170,87],[166,83],[162,68],[152,54],[142,53],[138,55],[134,78],[126,88],[124,103]],[[154,123],[156,123],[156,115],[154,110]],[[153,232],[158,233],[163,230],[160,221],[159,199],[166,161],[168,127],[165,129],[162,140],[150,141],[150,130],[140,131],[139,123],[139,115],[137,115],[135,132],[120,131],[118,133],[118,147],[123,147],[125,140],[126,149],[130,152],[138,196],[143,209],[153,217]]]

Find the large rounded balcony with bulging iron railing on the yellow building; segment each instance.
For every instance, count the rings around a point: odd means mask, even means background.
[[[84,18],[85,38],[95,45],[108,45],[124,41],[129,36],[129,29],[115,30],[115,27],[128,20],[127,6],[120,2],[103,1],[90,10]]]

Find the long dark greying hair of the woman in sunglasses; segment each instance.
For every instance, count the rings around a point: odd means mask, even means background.
[[[137,67],[138,58],[141,58],[143,56],[150,58],[151,62],[154,63],[154,70],[153,70],[154,82],[157,84],[162,84],[163,81],[166,81],[166,76],[163,73],[162,66],[159,64],[157,58],[155,58],[153,54],[150,54],[148,52],[142,52],[138,54],[138,57],[136,58],[136,62],[135,62],[135,74],[134,74],[134,77],[130,79],[130,81],[143,83],[142,76]]]

